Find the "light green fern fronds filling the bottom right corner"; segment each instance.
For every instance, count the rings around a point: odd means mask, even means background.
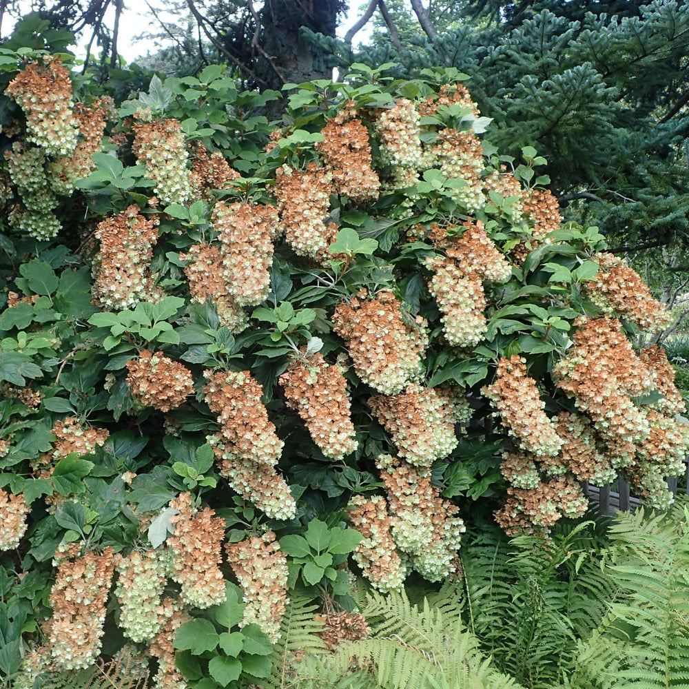
[[[689,688],[689,508],[620,515],[610,575],[624,597],[581,645],[577,681],[605,689]]]

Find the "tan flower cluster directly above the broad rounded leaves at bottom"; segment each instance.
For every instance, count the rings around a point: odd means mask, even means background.
[[[280,551],[272,531],[228,543],[225,551],[246,603],[240,626],[256,623],[271,641],[276,641],[289,601],[287,555]]]

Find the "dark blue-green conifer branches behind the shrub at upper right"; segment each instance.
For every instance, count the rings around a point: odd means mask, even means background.
[[[478,19],[455,3],[431,3],[441,32],[436,41],[411,10],[393,3],[408,34],[404,50],[383,30],[356,53],[335,41],[328,45],[344,66],[398,63],[391,73],[400,77],[429,65],[470,74],[472,96],[495,119],[491,141],[512,156],[535,145],[570,214],[625,245],[683,242],[689,232],[683,107],[689,6],[674,0],[466,4]],[[455,21],[448,23],[448,15]]]

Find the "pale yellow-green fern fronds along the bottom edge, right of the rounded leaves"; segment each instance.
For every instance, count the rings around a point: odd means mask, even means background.
[[[351,659],[369,668],[383,689],[518,689],[517,683],[497,672],[477,650],[477,641],[462,623],[456,601],[415,606],[406,593],[382,595],[371,591],[362,610],[371,635],[343,644],[338,652],[316,665],[346,677]]]

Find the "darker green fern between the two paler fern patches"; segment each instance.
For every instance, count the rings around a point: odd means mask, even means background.
[[[462,546],[462,606],[497,668],[530,689],[566,681],[577,643],[592,633],[616,587],[599,566],[591,522],[508,541],[482,529]]]

